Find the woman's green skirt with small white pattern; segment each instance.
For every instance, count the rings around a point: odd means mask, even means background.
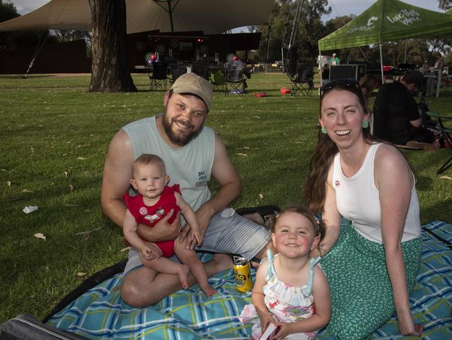
[[[408,291],[416,283],[421,238],[402,243]],[[341,228],[336,244],[321,260],[330,284],[336,339],[366,339],[394,314],[392,286],[383,245],[362,237],[353,224]]]

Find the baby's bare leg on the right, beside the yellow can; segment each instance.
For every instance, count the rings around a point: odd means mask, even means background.
[[[207,273],[204,269],[204,265],[197,257],[196,252],[193,249],[186,249],[185,242],[179,242],[176,240],[175,242],[175,253],[182,263],[186,263],[190,268],[191,274],[195,277],[202,291],[207,295],[207,297],[211,297],[216,294],[216,289],[213,289],[209,285],[209,280],[207,279]]]

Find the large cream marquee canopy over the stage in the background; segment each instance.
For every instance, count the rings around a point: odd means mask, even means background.
[[[160,30],[224,33],[266,24],[275,0],[126,0],[127,33]],[[168,10],[168,5],[171,10]],[[172,24],[171,19],[172,18]],[[33,12],[0,23],[0,31],[91,30],[88,0],[51,0]]]

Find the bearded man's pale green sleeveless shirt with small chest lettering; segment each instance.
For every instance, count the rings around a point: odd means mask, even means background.
[[[186,146],[172,148],[157,130],[155,116],[134,121],[122,127],[134,149],[134,158],[143,153],[159,155],[170,176],[168,185],[179,184],[184,200],[197,210],[211,197],[210,180],[215,155],[215,132],[203,126],[200,134]]]

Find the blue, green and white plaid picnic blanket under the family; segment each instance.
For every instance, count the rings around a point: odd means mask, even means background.
[[[414,320],[425,325],[423,339],[452,339],[452,225],[423,226],[421,270],[410,295]],[[202,254],[202,261],[209,260]],[[255,270],[252,270],[253,279]],[[89,339],[250,339],[251,325],[239,315],[251,293],[236,291],[232,270],[209,279],[218,293],[207,299],[197,285],[178,291],[148,308],[122,302],[122,274],[107,279],[55,314],[49,325]],[[372,339],[401,339],[395,316]],[[323,330],[317,339],[332,339]]]

